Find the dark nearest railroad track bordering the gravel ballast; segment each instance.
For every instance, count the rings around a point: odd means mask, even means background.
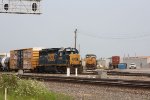
[[[67,83],[79,83],[90,85],[109,85],[109,86],[121,86],[121,87],[134,87],[134,88],[150,88],[150,81],[140,80],[123,80],[123,79],[98,79],[98,78],[83,78],[83,77],[62,77],[62,76],[33,76],[33,75],[21,75],[20,78],[36,79],[42,81],[55,81],[55,82],[67,82]]]

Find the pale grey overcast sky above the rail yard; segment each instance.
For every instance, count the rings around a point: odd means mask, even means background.
[[[150,55],[150,0],[43,0],[41,15],[0,14],[0,52],[77,47],[94,53]]]

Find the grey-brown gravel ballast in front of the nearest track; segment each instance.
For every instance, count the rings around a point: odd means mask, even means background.
[[[150,100],[148,89],[61,82],[45,84],[50,91],[72,96],[75,100]]]

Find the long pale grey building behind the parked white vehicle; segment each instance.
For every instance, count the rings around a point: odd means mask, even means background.
[[[124,57],[123,63],[127,63],[127,68],[131,63],[135,63],[137,68],[150,68],[150,56]]]

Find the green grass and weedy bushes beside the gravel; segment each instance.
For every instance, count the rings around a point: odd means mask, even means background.
[[[72,100],[70,96],[50,92],[39,81],[24,80],[15,75],[0,76],[0,100],[4,100],[5,88],[7,100]]]

